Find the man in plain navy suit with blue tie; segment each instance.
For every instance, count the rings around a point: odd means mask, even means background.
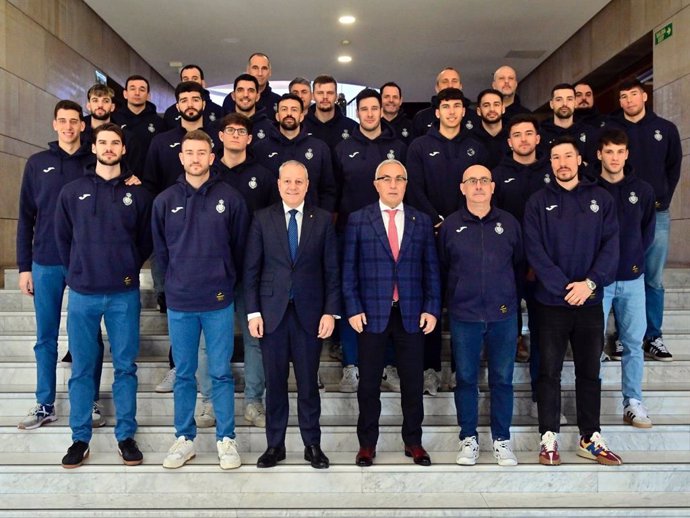
[[[270,468],[285,459],[289,362],[297,380],[297,412],[304,459],[328,468],[321,451],[321,400],[317,373],[320,340],[340,313],[340,269],[331,214],[305,205],[307,169],[296,160],[279,169],[282,202],[254,214],[245,255],[249,332],[261,338],[266,375],[266,440],[257,462]],[[379,369],[380,378],[380,369]]]

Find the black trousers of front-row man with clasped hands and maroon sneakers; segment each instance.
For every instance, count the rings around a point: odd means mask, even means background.
[[[575,363],[575,398],[580,435],[601,430],[601,351],[604,320],[601,302],[589,306],[537,305],[539,325],[539,433],[560,431],[561,371],[570,341]]]

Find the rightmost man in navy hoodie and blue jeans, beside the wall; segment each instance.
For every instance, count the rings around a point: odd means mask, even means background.
[[[611,119],[611,125],[627,133],[630,141],[628,163],[637,176],[654,188],[656,198],[654,242],[645,257],[647,331],[644,349],[651,358],[671,361],[673,356],[662,336],[663,274],[671,225],[669,206],[680,179],[683,150],[675,124],[646,108],[647,94],[639,81],[624,83],[618,91],[623,112]]]

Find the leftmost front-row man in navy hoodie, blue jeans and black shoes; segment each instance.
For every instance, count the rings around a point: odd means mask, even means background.
[[[150,193],[127,185],[121,168],[124,132],[106,123],[94,131],[97,163],[60,192],[55,237],[70,288],[67,335],[72,353],[69,381],[72,446],[62,460],[75,468],[88,456],[92,436],[94,375],[101,366],[98,331],[105,321],[115,381],[115,438],[122,460],[140,464],[137,430],[139,272],[151,254]]]

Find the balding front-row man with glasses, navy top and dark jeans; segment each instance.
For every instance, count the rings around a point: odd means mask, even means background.
[[[500,115],[499,115],[500,116]],[[510,445],[513,416],[513,358],[517,342],[518,283],[522,232],[508,212],[491,207],[494,184],[481,165],[465,170],[460,185],[466,207],[441,226],[439,261],[445,278],[452,349],[457,365],[455,407],[460,425],[457,463],[479,458],[478,374],[486,345],[491,388],[493,452],[501,466],[514,466]]]

